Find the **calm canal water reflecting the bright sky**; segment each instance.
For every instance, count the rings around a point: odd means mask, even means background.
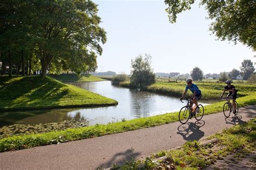
[[[118,101],[118,105],[98,108],[70,108],[15,111],[0,114],[0,128],[13,124],[45,124],[63,121],[89,125],[129,120],[179,111],[179,98],[112,86],[111,81],[68,83]],[[203,103],[202,103],[203,102]],[[205,101],[200,101],[206,105]]]

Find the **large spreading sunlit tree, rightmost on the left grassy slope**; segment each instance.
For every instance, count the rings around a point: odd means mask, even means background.
[[[106,42],[106,33],[99,27],[100,17],[95,3],[90,0],[34,1],[35,18],[32,23],[38,34],[37,53],[42,76],[54,58],[66,61],[72,58],[72,62],[102,54],[100,43]]]

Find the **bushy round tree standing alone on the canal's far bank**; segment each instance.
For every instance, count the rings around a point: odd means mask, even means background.
[[[132,60],[131,87],[145,89],[150,84],[156,82],[156,75],[151,67],[151,58],[149,54],[145,54],[145,57],[139,55],[136,59]]]

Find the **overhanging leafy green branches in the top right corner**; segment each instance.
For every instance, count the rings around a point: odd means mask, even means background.
[[[194,0],[165,0],[171,23],[175,23],[178,13],[190,10]],[[220,40],[237,41],[256,50],[256,2],[255,0],[201,0],[212,20],[210,30]]]

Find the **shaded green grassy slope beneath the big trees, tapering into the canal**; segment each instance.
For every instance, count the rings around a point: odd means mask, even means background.
[[[0,76],[0,110],[114,105],[117,101],[50,77]]]

